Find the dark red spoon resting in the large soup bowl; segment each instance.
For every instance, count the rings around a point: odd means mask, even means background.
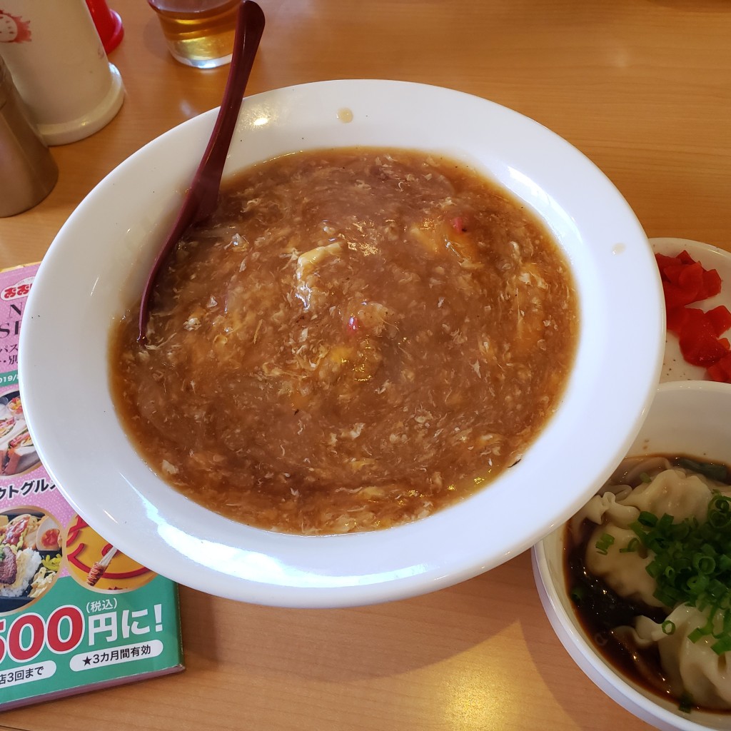
[[[238,121],[238,113],[246,90],[246,83],[249,81],[251,67],[254,65],[254,57],[257,55],[259,42],[264,32],[264,23],[264,12],[259,5],[254,0],[242,0],[236,16],[231,67],[216,123],[213,125],[208,145],[183,199],[178,218],[175,219],[173,228],[159,249],[143,288],[142,299],[140,300],[140,333],[137,336],[137,342],[140,344],[145,342],[149,299],[162,262],[178,241],[181,240],[186,230],[192,225],[207,219],[216,208],[221,186],[221,175],[223,175],[224,165],[231,145],[231,137]]]

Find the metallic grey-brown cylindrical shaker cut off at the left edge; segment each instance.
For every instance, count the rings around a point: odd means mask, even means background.
[[[56,180],[56,162],[0,58],[0,217],[32,208]]]

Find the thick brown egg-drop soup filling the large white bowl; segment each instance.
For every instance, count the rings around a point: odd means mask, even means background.
[[[449,159],[368,148],[259,164],[163,268],[111,379],[149,465],[267,529],[385,528],[520,458],[575,353],[566,262]]]

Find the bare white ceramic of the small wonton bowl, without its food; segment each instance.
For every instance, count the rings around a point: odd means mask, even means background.
[[[686,454],[731,464],[731,386],[688,381],[662,384],[628,455]],[[664,731],[731,730],[731,715],[683,713],[677,703],[661,700],[620,675],[594,650],[577,621],[566,591],[564,529],[533,548],[538,593],[561,643],[577,665],[613,700]]]

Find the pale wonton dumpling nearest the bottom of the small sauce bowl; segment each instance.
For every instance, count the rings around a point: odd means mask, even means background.
[[[731,657],[717,655],[711,649],[713,637],[701,637],[695,643],[688,635],[705,625],[705,615],[695,607],[681,605],[667,617],[675,624],[675,632],[666,635],[662,626],[648,617],[640,616],[629,632],[637,645],[647,648],[656,644],[662,669],[675,697],[689,693],[693,702],[705,708],[731,708]]]

